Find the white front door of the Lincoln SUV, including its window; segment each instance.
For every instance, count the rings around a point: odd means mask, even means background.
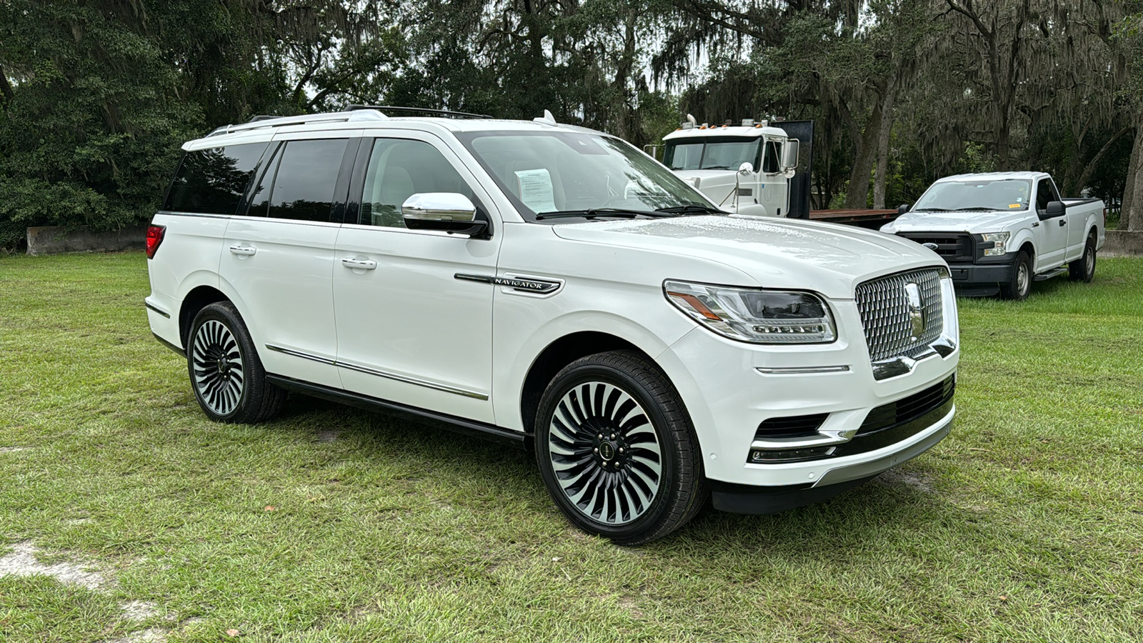
[[[337,368],[347,390],[493,422],[493,295],[503,229],[470,239],[405,227],[414,193],[491,198],[435,136],[361,141],[334,260]],[[487,206],[485,206],[487,207]]]

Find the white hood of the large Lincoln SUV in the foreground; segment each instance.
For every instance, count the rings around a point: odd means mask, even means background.
[[[912,241],[847,225],[742,215],[679,216],[559,224],[565,239],[625,246],[718,262],[762,286],[816,291],[853,299],[861,281],[921,265],[944,265]],[[685,272],[664,279],[688,279]]]

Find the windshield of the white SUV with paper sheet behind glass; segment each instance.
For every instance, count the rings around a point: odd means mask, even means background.
[[[552,213],[664,216],[718,212],[681,178],[610,136],[580,132],[461,132],[456,136],[530,221],[557,219]]]

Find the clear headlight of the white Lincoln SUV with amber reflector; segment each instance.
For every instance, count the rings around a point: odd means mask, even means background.
[[[826,343],[838,336],[829,307],[813,293],[687,281],[665,281],[663,292],[676,308],[732,340],[762,344]]]

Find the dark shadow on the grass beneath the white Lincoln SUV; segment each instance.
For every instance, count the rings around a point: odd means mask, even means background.
[[[322,437],[329,435],[323,431],[337,430],[334,444],[353,442],[362,450],[362,457],[378,465],[403,459],[408,466],[422,470],[423,476],[442,476],[442,485],[451,484],[455,475],[463,473],[469,484],[494,490],[482,507],[485,510],[507,514],[523,503],[563,521],[547,497],[530,451],[456,434],[442,426],[293,394],[286,412],[274,423],[296,439],[319,443],[328,439]],[[894,471],[824,502],[780,514],[727,514],[714,510],[708,501],[688,525],[642,549],[663,554],[685,551],[688,565],[740,555],[757,556],[760,551],[791,561],[820,553],[825,562],[842,549],[893,542],[901,538],[902,531],[930,531],[934,523],[964,519],[964,511],[944,502],[926,484],[916,482],[918,474],[904,474],[912,482],[902,482],[904,476]],[[568,540],[578,538],[569,523],[565,533]]]

